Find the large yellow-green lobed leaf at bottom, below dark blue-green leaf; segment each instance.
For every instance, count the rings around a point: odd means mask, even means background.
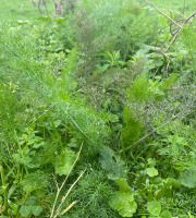
[[[133,217],[137,209],[133,194],[126,190],[115,192],[110,197],[109,205],[117,209],[122,217]]]

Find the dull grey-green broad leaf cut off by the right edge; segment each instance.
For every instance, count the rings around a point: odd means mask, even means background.
[[[196,167],[182,171],[180,173],[180,181],[186,187],[196,187]]]

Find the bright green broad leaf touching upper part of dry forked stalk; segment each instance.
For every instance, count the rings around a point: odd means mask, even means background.
[[[68,174],[75,161],[76,154],[72,150],[64,150],[56,157],[54,168],[59,175]]]

